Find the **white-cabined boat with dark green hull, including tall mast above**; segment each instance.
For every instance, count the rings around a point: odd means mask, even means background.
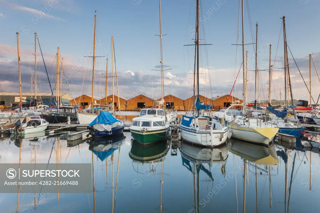
[[[164,82],[163,82],[163,60],[162,60],[162,30],[161,30],[161,0],[159,0],[160,11],[160,49],[161,49],[161,91],[162,99],[158,102],[164,106]],[[132,119],[132,125],[129,127],[132,138],[141,144],[151,144],[162,141],[167,138],[170,122],[177,119],[175,112],[169,114],[162,107],[147,108],[140,111],[139,117]]]

